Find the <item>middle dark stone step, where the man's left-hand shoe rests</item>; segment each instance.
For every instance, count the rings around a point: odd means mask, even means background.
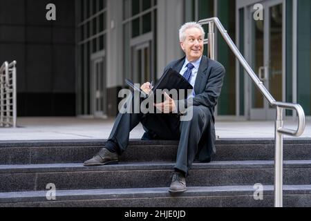
[[[85,167],[82,164],[1,165],[0,192],[45,190],[49,183],[58,190],[151,188],[169,186],[172,162],[134,162]],[[195,163],[187,186],[271,185],[273,161]],[[285,161],[284,184],[311,184],[311,160]]]

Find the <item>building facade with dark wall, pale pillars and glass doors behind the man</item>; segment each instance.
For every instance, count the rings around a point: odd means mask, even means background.
[[[118,98],[118,92],[126,87],[124,79],[133,79],[135,83],[159,79],[164,66],[182,57],[178,42],[182,23],[209,17],[220,19],[277,101],[299,103],[305,115],[311,115],[309,0],[0,2],[8,7],[15,4],[23,15],[19,21],[8,19],[12,13],[9,15],[0,8],[0,60],[17,59],[19,115],[39,112],[115,116],[122,99]],[[37,13],[45,13],[44,6],[50,2],[57,7],[57,21],[52,23],[40,20],[39,16],[45,15]],[[262,14],[258,14],[261,7]],[[23,39],[10,37],[13,35],[8,34],[10,30],[24,33]],[[208,32],[207,27],[205,31]],[[49,57],[43,56],[46,52]],[[274,119],[275,109],[254,86],[219,32],[215,54],[226,69],[217,117]],[[39,106],[41,100],[48,103],[45,109]],[[30,108],[30,104],[37,102],[36,108]],[[44,111],[62,107],[69,111]],[[42,111],[36,111],[40,108]],[[288,111],[286,115],[290,117],[293,113]]]

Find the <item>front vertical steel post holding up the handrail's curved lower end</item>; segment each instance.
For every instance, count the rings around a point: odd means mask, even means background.
[[[276,106],[275,162],[274,162],[274,206],[283,207],[283,108]]]

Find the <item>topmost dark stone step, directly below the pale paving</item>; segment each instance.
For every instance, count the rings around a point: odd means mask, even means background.
[[[104,146],[105,140],[0,142],[0,164],[82,163]],[[173,162],[177,141],[131,140],[122,162]],[[274,140],[217,140],[213,160],[274,160]],[[284,140],[285,160],[311,160],[311,140]]]

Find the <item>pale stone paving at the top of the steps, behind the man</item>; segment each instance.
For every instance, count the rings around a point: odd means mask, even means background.
[[[19,117],[17,128],[0,128],[0,140],[88,140],[107,139],[113,127],[113,118],[85,119],[78,117]],[[311,119],[305,123],[305,132],[299,138],[311,138]],[[296,122],[286,120],[287,128],[296,128]],[[216,135],[225,138],[274,138],[273,121],[234,121],[216,119]],[[144,130],[136,126],[130,139],[139,139]],[[289,136],[285,136],[289,137]]]

